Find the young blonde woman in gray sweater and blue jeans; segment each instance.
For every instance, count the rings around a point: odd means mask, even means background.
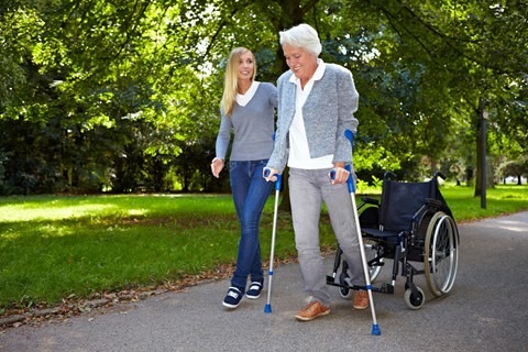
[[[258,226],[272,184],[262,178],[262,172],[273,151],[277,90],[273,84],[256,81],[255,76],[254,54],[245,47],[234,48],[226,69],[220,130],[211,163],[212,174],[219,177],[234,132],[229,176],[241,233],[237,267],[222,302],[227,308],[237,308],[244,294],[250,299],[258,298],[264,285]]]

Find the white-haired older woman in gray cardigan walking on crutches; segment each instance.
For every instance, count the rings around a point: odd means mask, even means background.
[[[321,42],[315,29],[299,24],[280,32],[280,45],[289,70],[277,80],[278,121],[274,151],[266,167],[275,180],[289,166],[289,195],[295,242],[309,296],[295,317],[312,320],[330,312],[330,295],[319,246],[319,220],[324,201],[332,229],[353,285],[365,286],[359,241],[346,187],[352,147],[345,130],[356,132],[359,95],[346,68],[319,58]],[[351,165],[352,166],[352,165]],[[329,173],[334,170],[332,180]],[[351,167],[352,172],[353,168]],[[356,290],[353,306],[369,307],[366,290]]]

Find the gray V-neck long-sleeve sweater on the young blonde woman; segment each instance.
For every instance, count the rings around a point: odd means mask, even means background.
[[[217,157],[226,158],[231,131],[234,132],[231,161],[267,160],[273,151],[277,89],[270,82],[260,82],[253,98],[245,105],[235,103],[230,117],[220,111],[217,136]]]

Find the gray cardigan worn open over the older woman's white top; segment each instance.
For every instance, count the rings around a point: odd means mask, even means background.
[[[267,167],[283,173],[288,161],[288,133],[295,114],[296,85],[290,82],[292,70],[277,80],[278,120],[275,144]],[[352,162],[352,147],[344,136],[345,130],[356,132],[359,94],[352,73],[339,65],[327,64],[320,80],[302,106],[306,135],[310,156],[321,157],[333,154],[333,163]]]

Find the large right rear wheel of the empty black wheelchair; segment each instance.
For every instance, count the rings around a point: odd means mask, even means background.
[[[440,297],[451,290],[459,263],[459,231],[454,220],[442,211],[435,213],[426,233],[424,270],[431,294]]]

